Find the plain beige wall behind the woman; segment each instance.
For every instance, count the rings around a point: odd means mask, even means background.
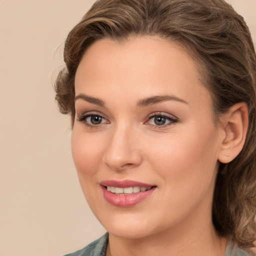
[[[256,0],[228,0],[256,41]],[[52,84],[94,0],[0,0],[0,256],[58,256],[104,233],[79,187]]]

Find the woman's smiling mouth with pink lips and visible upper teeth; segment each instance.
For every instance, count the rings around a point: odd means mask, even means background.
[[[131,180],[105,180],[100,182],[104,199],[118,207],[134,206],[148,198],[156,189],[155,185]]]

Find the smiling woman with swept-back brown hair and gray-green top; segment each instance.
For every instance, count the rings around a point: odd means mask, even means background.
[[[223,0],[98,0],[55,90],[84,196],[108,231],[68,255],[249,255],[256,57]]]

